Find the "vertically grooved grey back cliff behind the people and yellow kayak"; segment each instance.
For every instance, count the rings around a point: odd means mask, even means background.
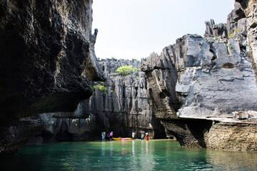
[[[113,131],[115,137],[131,137],[134,132],[136,138],[141,138],[141,133],[149,133],[150,138],[165,138],[164,129],[148,104],[145,74],[138,70],[121,76],[116,71],[126,65],[137,70],[140,62],[112,58],[101,59],[99,64],[106,81],[91,82],[93,95],[81,102],[75,113],[41,115],[46,129],[39,136],[44,142],[100,139],[104,131]],[[106,90],[101,91],[98,85]]]

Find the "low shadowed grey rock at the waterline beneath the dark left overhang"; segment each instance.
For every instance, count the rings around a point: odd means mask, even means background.
[[[68,118],[73,113],[44,113],[44,130],[36,138],[42,142],[94,140],[95,117]],[[74,116],[73,116],[74,117]]]

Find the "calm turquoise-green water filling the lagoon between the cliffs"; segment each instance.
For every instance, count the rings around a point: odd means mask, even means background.
[[[186,148],[170,140],[60,142],[22,148],[1,170],[257,170],[257,152]]]

